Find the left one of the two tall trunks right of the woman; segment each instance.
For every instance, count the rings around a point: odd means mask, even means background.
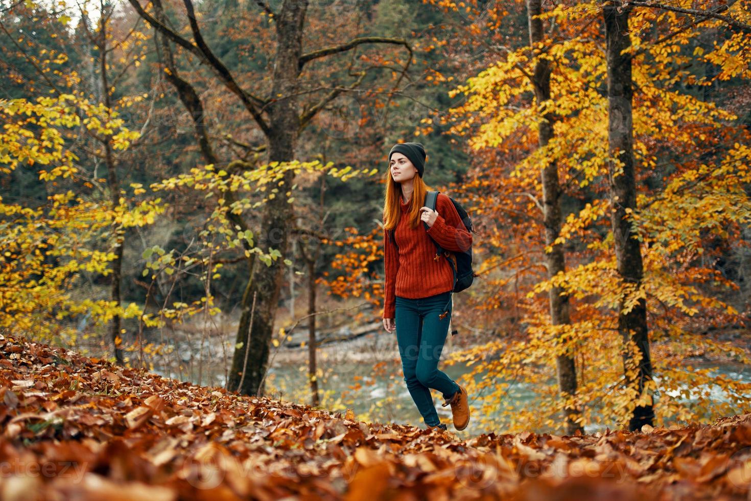
[[[529,20],[529,45],[532,51],[536,52],[535,47],[543,41],[542,20],[539,14],[542,13],[541,0],[527,0],[527,17]],[[550,62],[546,59],[539,59],[535,64],[535,74],[532,84],[535,87],[535,99],[538,103],[550,99]],[[553,113],[545,113],[544,121],[540,122],[538,127],[538,143],[541,148],[550,143],[553,137],[553,122],[557,117]],[[550,161],[542,170],[542,199],[544,207],[545,222],[545,243],[553,246],[553,251],[545,253],[545,262],[547,264],[547,276],[552,278],[559,271],[566,271],[566,256],[563,254],[562,244],[553,245],[556,238],[559,237],[561,228],[561,208],[560,208],[561,189],[558,180],[558,166],[556,162]],[[569,315],[569,294],[563,294],[562,288],[553,287],[550,289],[550,321],[553,325],[570,324]],[[564,398],[575,395],[577,391],[576,382],[576,365],[575,353],[569,350],[568,353],[556,357],[556,373],[558,376],[558,388]],[[575,418],[581,413],[575,406],[566,406],[563,409],[566,420],[566,433],[573,435],[576,430],[584,431],[580,424],[575,422]]]

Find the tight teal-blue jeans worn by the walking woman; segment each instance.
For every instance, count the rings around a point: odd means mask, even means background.
[[[451,291],[418,299],[396,297],[394,321],[404,380],[428,426],[436,426],[441,422],[430,388],[441,391],[444,399],[459,391],[459,385],[438,369],[451,320],[451,308],[454,306],[454,301],[449,301],[450,297]],[[441,319],[439,315],[446,311],[447,302],[448,315]]]

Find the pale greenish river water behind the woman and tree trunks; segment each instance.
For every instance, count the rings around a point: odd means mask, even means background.
[[[439,369],[443,370],[451,379],[460,380],[465,373],[472,369],[464,364],[447,365],[444,363],[448,354],[458,349],[452,346],[452,340],[448,340],[441,355],[442,361]],[[424,428],[425,425],[418,413],[412,397],[407,391],[403,379],[403,372],[399,360],[399,352],[393,336],[389,334],[369,334],[345,342],[330,343],[318,349],[319,391],[324,396],[322,406],[327,409],[340,410],[343,408],[353,409],[357,419],[363,421],[396,422],[399,424],[411,424]],[[272,354],[272,363],[267,374],[266,391],[271,397],[281,397],[283,400],[296,403],[310,403],[309,383],[306,379],[307,349],[284,349],[280,348]],[[751,367],[740,364],[692,364],[693,367],[714,367],[713,374],[727,376],[736,381],[744,382],[751,388]],[[476,374],[475,378],[485,377],[484,374]],[[493,376],[495,377],[495,376]],[[659,385],[659,374],[655,380]],[[352,390],[352,385],[359,383],[360,388]],[[501,383],[501,381],[499,381]],[[554,385],[550,380],[547,384]],[[682,388],[689,393],[681,394],[680,391],[665,392],[665,395],[677,400],[698,400],[701,394],[708,392],[713,402],[728,401],[728,395],[717,385],[711,387]],[[751,390],[747,395],[751,401]],[[436,403],[436,411],[443,423],[451,426],[451,407],[441,406],[442,394],[432,390],[433,401]],[[336,399],[342,397],[342,402],[336,405]],[[472,395],[470,395],[472,397]],[[516,383],[513,392],[509,393],[511,406],[514,409],[528,406],[535,398],[535,393],[524,384]],[[706,398],[706,397],[704,397]],[[506,402],[508,403],[508,402]],[[470,405],[472,398],[470,398]],[[737,405],[737,404],[736,404]],[[743,410],[745,407],[745,410]],[[473,409],[473,412],[477,410]],[[506,409],[508,412],[508,409]],[[513,411],[511,411],[513,412]],[[738,413],[749,412],[748,405],[740,405]],[[475,417],[475,414],[472,415]],[[497,416],[500,417],[500,416]],[[721,416],[710,416],[719,418]],[[683,424],[678,422],[665,423]],[[585,427],[586,433],[594,433],[597,430],[605,430],[606,427],[617,429],[617,424],[610,426],[591,424]],[[466,430],[460,432],[463,436],[473,436],[480,433],[507,433],[502,429],[487,429],[475,419],[471,419]],[[550,432],[552,430],[530,430],[537,433]]]

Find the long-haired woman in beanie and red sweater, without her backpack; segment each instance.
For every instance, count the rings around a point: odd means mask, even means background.
[[[469,423],[466,390],[438,369],[451,321],[454,272],[448,258],[436,255],[435,242],[463,252],[472,246],[472,234],[448,196],[438,194],[436,210],[424,207],[430,190],[422,180],[425,156],[421,143],[397,143],[388,154],[383,326],[397,330],[404,380],[428,429],[446,430],[430,395],[434,388],[443,394],[442,405],[451,405],[454,428],[463,430]]]

